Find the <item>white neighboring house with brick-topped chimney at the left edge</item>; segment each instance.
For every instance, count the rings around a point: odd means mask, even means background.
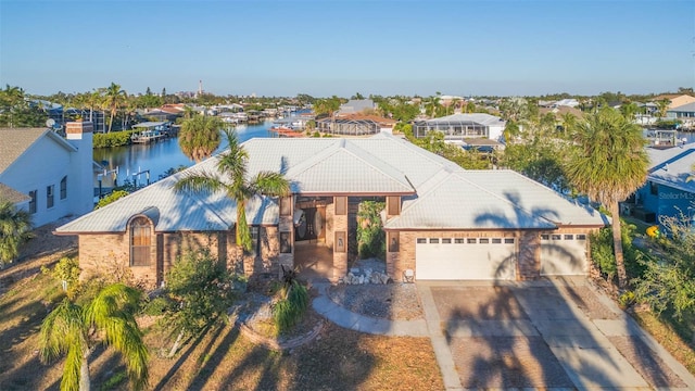
[[[91,123],[67,123],[66,139],[45,128],[0,129],[0,184],[25,194],[34,226],[93,209]]]

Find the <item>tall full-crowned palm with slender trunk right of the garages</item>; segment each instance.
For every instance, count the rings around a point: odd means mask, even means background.
[[[649,159],[642,128],[605,108],[579,124],[576,144],[567,163],[567,177],[579,191],[610,211],[618,286],[622,288],[627,276],[618,203],[646,180]]]

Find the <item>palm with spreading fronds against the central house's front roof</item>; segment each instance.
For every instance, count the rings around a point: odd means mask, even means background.
[[[237,203],[237,244],[251,251],[251,232],[247,223],[247,201],[256,194],[285,197],[290,182],[280,173],[260,172],[248,177],[249,154],[239,143],[233,130],[225,129],[229,150],[218,156],[218,173],[190,173],[174,185],[176,191],[224,191]],[[180,136],[179,136],[180,137]]]

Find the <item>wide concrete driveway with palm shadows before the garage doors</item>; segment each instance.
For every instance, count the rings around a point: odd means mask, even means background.
[[[583,278],[417,282],[447,389],[695,389],[695,378]]]

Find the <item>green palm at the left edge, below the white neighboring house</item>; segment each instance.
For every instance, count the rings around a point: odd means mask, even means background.
[[[20,254],[20,245],[31,237],[31,216],[0,199],[0,267]]]

